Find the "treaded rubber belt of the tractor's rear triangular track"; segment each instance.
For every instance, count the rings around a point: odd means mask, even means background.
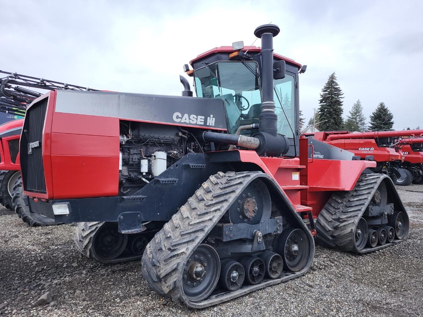
[[[384,174],[362,174],[352,191],[333,193],[316,220],[316,238],[319,243],[332,249],[367,253],[405,240],[407,236],[402,240],[385,243],[383,246],[364,248],[360,251],[355,248],[357,223],[363,216],[379,184],[385,178],[389,177]]]

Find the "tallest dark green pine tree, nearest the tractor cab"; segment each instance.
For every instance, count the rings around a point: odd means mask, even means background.
[[[336,131],[343,128],[342,118],[342,98],[343,92],[336,82],[335,73],[329,76],[326,84],[320,93],[319,100],[319,130],[321,131]]]

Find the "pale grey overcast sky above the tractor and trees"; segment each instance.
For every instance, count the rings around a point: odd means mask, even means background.
[[[204,4],[203,4],[204,3]],[[306,123],[336,72],[344,117],[380,101],[394,128],[423,128],[422,1],[6,1],[0,69],[96,89],[179,95],[182,66],[277,24],[275,52],[307,64]],[[255,42],[260,46],[260,40]]]

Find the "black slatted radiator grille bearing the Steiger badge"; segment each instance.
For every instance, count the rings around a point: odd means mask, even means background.
[[[27,156],[27,177],[25,189],[27,191],[36,191],[46,193],[46,182],[44,178],[44,166],[42,158],[41,141],[43,137],[44,118],[47,111],[47,98],[39,101],[30,107],[26,116],[28,119],[28,144],[31,142],[40,142],[40,146],[32,148],[32,154]]]

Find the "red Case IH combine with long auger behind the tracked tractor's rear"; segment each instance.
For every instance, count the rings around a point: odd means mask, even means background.
[[[413,175],[404,168],[405,156],[398,138],[423,135],[423,130],[379,131],[351,133],[349,131],[316,132],[314,138],[348,150],[360,159],[374,160],[373,172],[386,173],[399,186],[412,183]],[[319,153],[315,153],[319,155]]]

